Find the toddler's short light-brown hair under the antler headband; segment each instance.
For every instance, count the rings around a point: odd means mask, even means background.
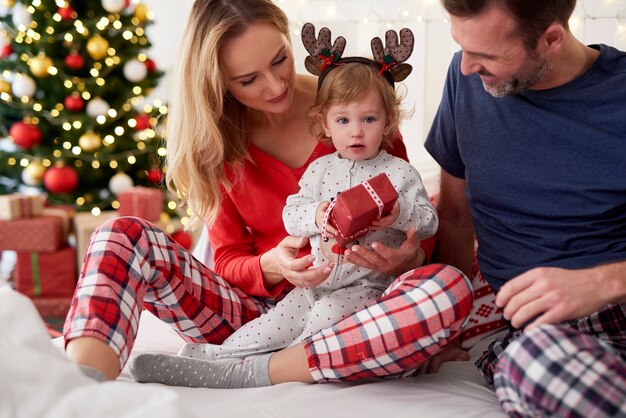
[[[360,99],[375,89],[380,94],[385,109],[389,132],[383,136],[382,148],[389,148],[400,131],[400,120],[404,113],[400,108],[402,98],[398,97],[390,82],[378,73],[376,63],[359,58],[357,62],[338,65],[325,76],[318,86],[315,102],[307,111],[311,133],[321,141],[332,144],[319,123],[328,108],[335,104],[347,104]]]

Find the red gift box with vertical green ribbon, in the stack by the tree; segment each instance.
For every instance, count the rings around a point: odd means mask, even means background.
[[[32,298],[68,298],[76,288],[76,255],[72,247],[51,253],[18,252],[15,290]]]

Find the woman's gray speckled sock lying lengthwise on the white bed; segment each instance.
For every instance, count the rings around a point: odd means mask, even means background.
[[[205,388],[254,388],[270,386],[270,354],[206,361],[167,354],[140,354],[130,360],[137,382]]]

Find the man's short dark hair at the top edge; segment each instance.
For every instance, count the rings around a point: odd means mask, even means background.
[[[535,49],[537,41],[554,22],[568,29],[568,20],[576,7],[576,0],[441,0],[452,16],[477,16],[492,6],[504,10],[517,22],[518,32],[528,49]]]

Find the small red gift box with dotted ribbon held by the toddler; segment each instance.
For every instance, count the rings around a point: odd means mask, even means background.
[[[397,199],[398,192],[385,173],[341,192],[329,217],[338,231],[337,244],[343,247],[367,234],[372,222],[389,214]]]

